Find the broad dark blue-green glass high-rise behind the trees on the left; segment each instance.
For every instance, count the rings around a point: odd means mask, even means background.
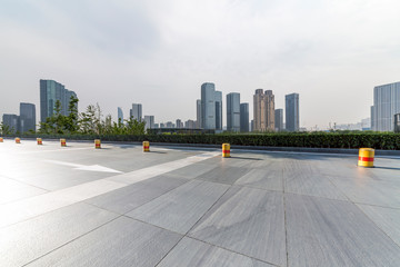
[[[77,98],[74,91],[53,80],[40,80],[40,121],[54,113],[56,101],[61,102],[61,115],[69,115],[69,102],[71,97]]]

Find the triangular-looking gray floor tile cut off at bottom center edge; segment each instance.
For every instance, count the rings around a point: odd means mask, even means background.
[[[184,237],[158,267],[269,267],[272,265]]]

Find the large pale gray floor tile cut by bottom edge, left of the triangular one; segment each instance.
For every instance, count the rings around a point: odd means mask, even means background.
[[[46,255],[28,266],[156,266],[181,236],[126,217]]]

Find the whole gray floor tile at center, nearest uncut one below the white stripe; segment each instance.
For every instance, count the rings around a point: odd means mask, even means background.
[[[191,180],[127,216],[186,234],[228,188],[226,185]]]

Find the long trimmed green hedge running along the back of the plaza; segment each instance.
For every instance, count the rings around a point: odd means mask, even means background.
[[[37,135],[42,138],[60,138],[61,136]],[[34,137],[37,137],[34,136]],[[33,137],[33,136],[24,136]],[[306,147],[306,148],[361,148],[369,147],[386,150],[400,150],[399,134],[264,134],[264,135],[143,135],[143,136],[83,136],[63,135],[73,140],[103,141],[143,141],[171,144],[209,144],[229,142],[240,146],[267,147]]]

